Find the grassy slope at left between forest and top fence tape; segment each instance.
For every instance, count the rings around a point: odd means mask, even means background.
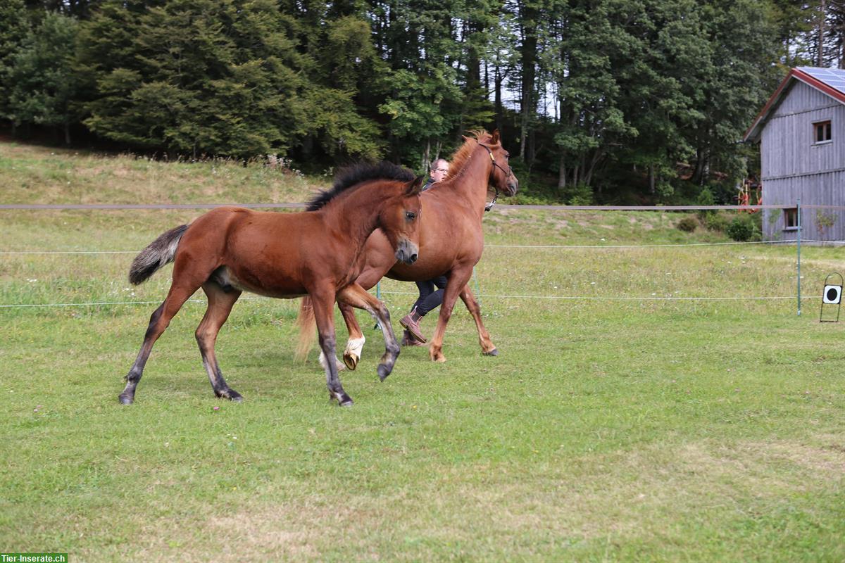
[[[286,203],[331,178],[235,160],[162,162],[0,143],[3,203]]]

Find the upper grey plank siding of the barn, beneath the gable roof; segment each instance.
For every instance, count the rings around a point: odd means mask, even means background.
[[[831,142],[815,144],[814,122],[831,120]],[[766,181],[845,169],[845,106],[796,82],[766,122],[760,143]]]

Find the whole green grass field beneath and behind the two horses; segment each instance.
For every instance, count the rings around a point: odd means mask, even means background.
[[[302,201],[328,183],[0,144],[3,203]],[[3,255],[0,305],[160,301],[170,268],[130,286],[131,252],[196,214],[0,211],[0,252],[129,252]],[[0,307],[0,549],[845,560],[845,317],[818,322],[842,251],[802,250],[798,317],[793,299],[657,299],[795,295],[794,247],[571,247],[727,241],[675,229],[681,216],[494,210],[477,278],[499,357],[480,355],[459,304],[448,362],[404,349],[380,383],[383,345],[362,314],[363,360],[341,373],[352,409],[329,403],[316,350],[293,360],[296,300],[242,300],[222,329],[218,358],[243,403],[214,398],[194,341],[204,305],[188,303],[131,407],[117,394],[156,304]],[[382,290],[397,321],[415,288]]]

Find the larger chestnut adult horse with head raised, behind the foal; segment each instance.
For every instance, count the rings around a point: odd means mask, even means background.
[[[474,132],[472,138],[464,137],[464,143],[455,154],[449,169],[449,176],[420,195],[423,212],[420,215],[420,259],[412,266],[397,263],[390,252],[388,239],[380,230],[373,231],[367,240],[361,256],[361,273],[357,284],[365,290],[372,288],[385,275],[401,281],[424,281],[439,275],[446,276],[448,283],[444,290],[443,304],[437,328],[428,352],[434,361],[445,361],[443,337],[446,324],[460,295],[464,305],[475,320],[478,342],[484,355],[497,355],[498,350],[481,320],[481,309],[475,295],[466,284],[472,277],[472,268],[481,259],[484,250],[482,217],[490,186],[513,196],[519,187],[508,159],[510,154],[502,148],[499,132]],[[494,199],[495,201],[495,199]],[[343,354],[346,366],[354,370],[363,349],[364,337],[349,306],[338,304],[349,329],[349,342]],[[299,350],[307,348],[313,338],[313,322],[310,322],[308,298],[303,299],[299,311]],[[384,328],[384,325],[382,325]],[[332,358],[332,356],[326,356]],[[331,364],[335,361],[321,363]]]

